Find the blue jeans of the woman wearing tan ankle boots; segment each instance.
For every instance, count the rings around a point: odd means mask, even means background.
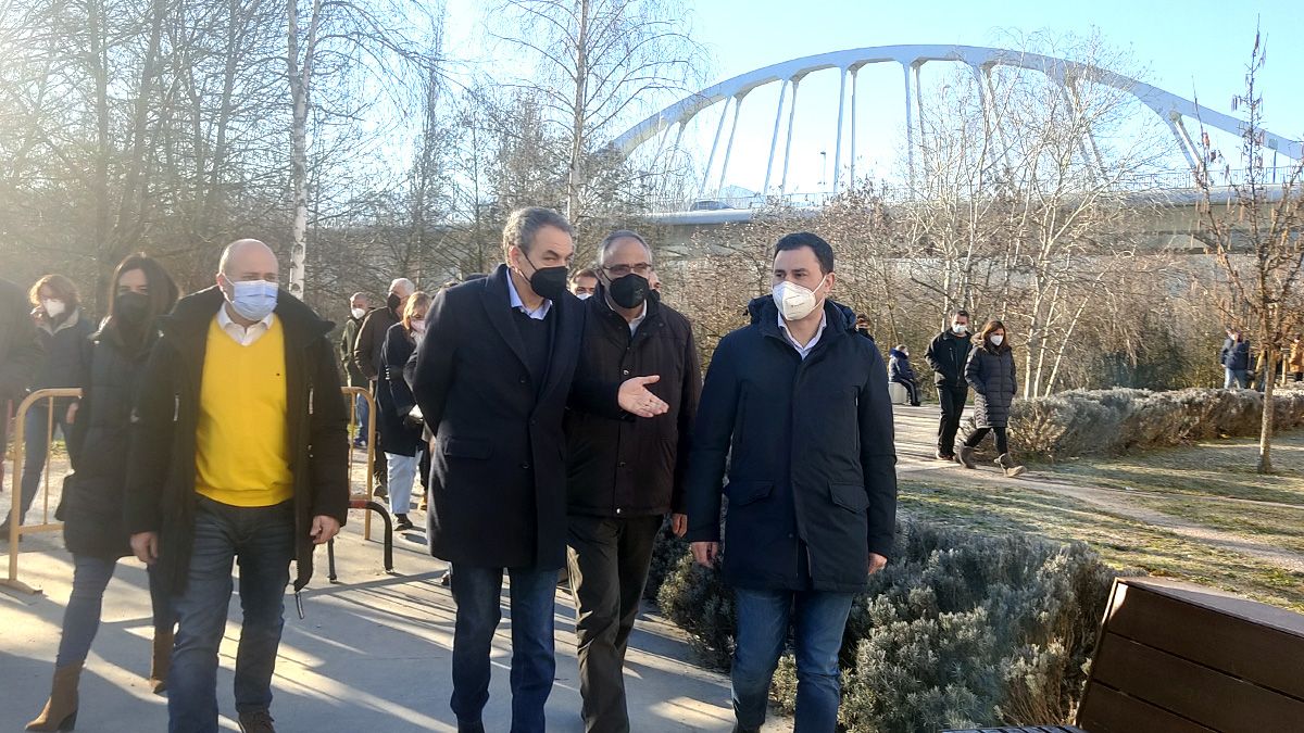
[[[99,631],[100,609],[104,605],[104,588],[117,569],[117,558],[73,556],[73,592],[64,609],[64,629],[59,636],[59,656],[55,666],[68,666],[86,661],[90,644]],[[150,570],[150,604],[154,606],[154,634],[171,631],[176,617],[172,614],[170,599],[155,580]]]

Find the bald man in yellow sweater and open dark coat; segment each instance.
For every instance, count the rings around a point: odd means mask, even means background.
[[[235,700],[240,729],[273,732],[271,677],[296,561],[348,513],[347,408],[322,321],[279,291],[276,257],[240,240],[218,286],[162,323],[137,398],[126,520],[179,617],[168,676],[170,730],[218,730],[218,647],[240,565],[243,626]]]

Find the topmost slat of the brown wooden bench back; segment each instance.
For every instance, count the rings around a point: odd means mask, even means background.
[[[1162,591],[1162,592],[1157,592]],[[1196,590],[1151,588],[1140,583],[1120,583],[1107,630],[1148,647],[1197,661],[1256,685],[1304,699],[1304,636],[1277,626],[1248,620],[1254,606],[1243,601],[1228,616],[1228,599],[1210,593],[1196,605]],[[1236,599],[1234,599],[1236,600]],[[1281,609],[1262,606],[1265,610]]]

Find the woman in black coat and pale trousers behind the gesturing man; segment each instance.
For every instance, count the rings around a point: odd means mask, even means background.
[[[383,369],[376,386],[381,413],[377,426],[389,471],[390,511],[395,519],[394,528],[400,531],[415,527],[407,514],[412,509],[412,485],[424,450],[421,412],[417,410],[413,413],[416,399],[403,378],[403,368],[417,343],[425,338],[425,313],[429,309],[430,296],[424,292],[412,293],[407,300],[402,320],[385,334],[381,351]]]

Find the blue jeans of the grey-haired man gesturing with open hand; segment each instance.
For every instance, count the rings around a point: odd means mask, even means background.
[[[452,712],[459,724],[480,723],[489,702],[489,653],[502,620],[502,567],[458,565],[452,597]],[[509,569],[511,580],[511,733],[544,733],[544,704],[553,690],[553,614],[557,570]]]

